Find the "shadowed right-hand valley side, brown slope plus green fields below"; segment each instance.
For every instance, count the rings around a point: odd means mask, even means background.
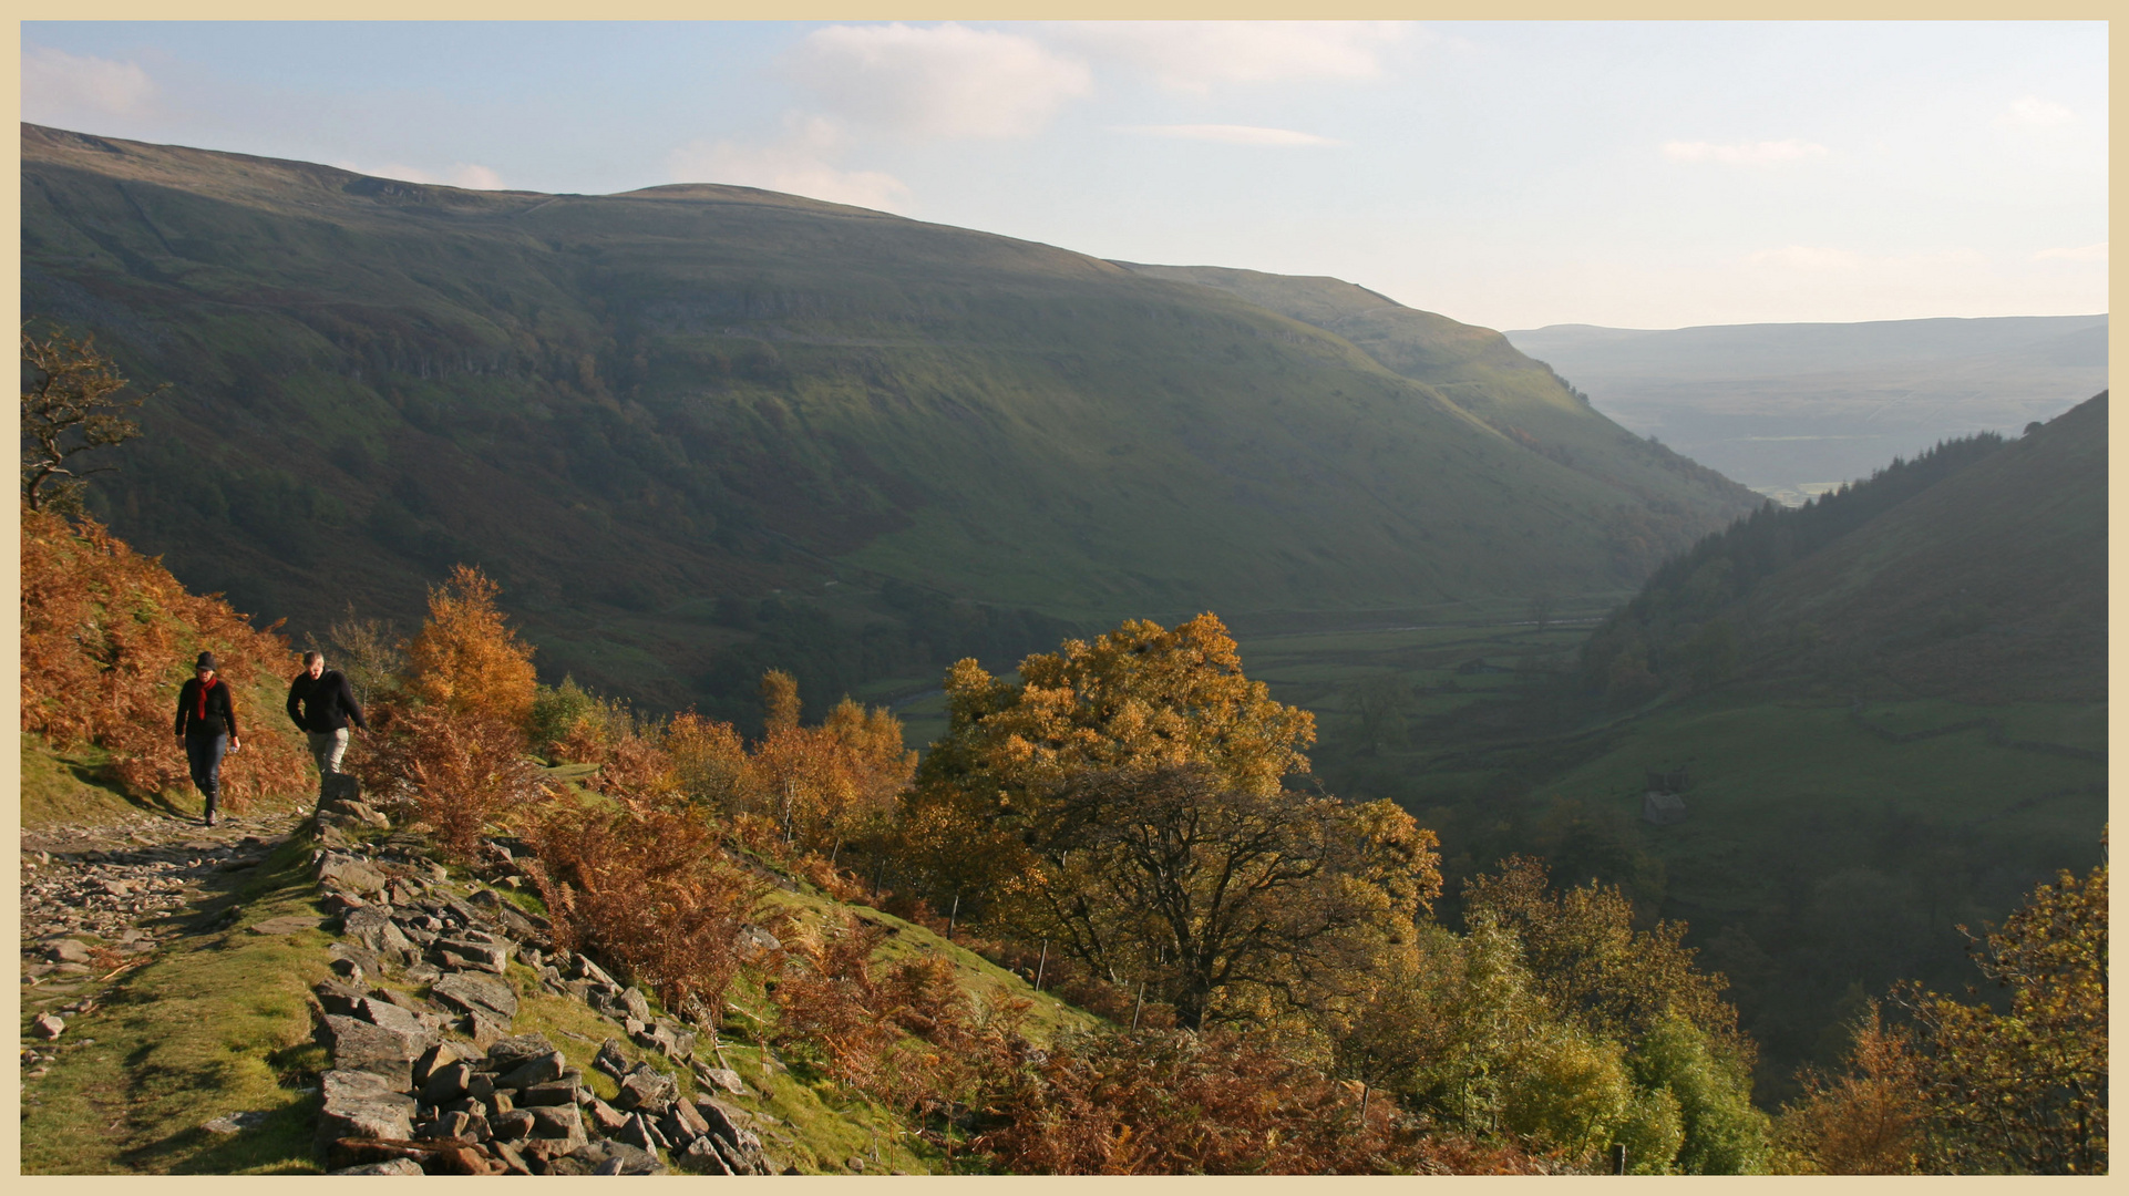
[[[1761,1098],[1784,1098],[1895,979],[1965,983],[1957,926],[2103,858],[2106,423],[2099,396],[1742,521],[1580,660],[1573,634],[1473,626],[1269,677],[1333,715],[1326,783],[1420,815],[1446,875],[1535,851],[1686,919],[1761,1043]],[[1680,824],[1641,817],[1656,770],[1686,775]]]

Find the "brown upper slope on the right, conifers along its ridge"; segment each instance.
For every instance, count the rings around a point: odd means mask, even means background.
[[[2023,438],[1948,443],[1710,536],[1592,634],[1584,675],[1631,677],[1637,653],[1669,683],[2103,700],[2106,500],[2101,392]]]

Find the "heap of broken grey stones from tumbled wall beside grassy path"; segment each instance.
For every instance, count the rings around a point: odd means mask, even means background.
[[[681,1096],[681,1070],[705,1092],[745,1092],[715,1060],[707,1015],[654,1015],[596,960],[556,949],[543,917],[496,887],[453,883],[415,836],[351,838],[351,828],[383,821],[366,804],[332,802],[324,821],[313,870],[339,941],[328,947],[334,979],[313,990],[332,1053],[317,1147],[334,1175],[783,1170],[752,1113]],[[517,883],[511,847],[490,843],[488,873],[505,887]],[[617,1083],[613,1102],[545,1034],[513,1034],[511,962],[613,1026],[592,1064]]]

